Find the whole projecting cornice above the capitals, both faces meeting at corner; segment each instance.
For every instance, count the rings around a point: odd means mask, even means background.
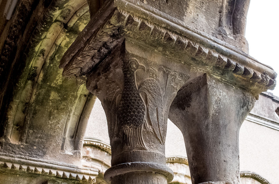
[[[118,0],[108,5],[110,8],[107,9],[111,12],[106,10],[104,17],[98,15],[108,21],[101,24],[96,18],[92,19],[85,28],[87,32],[83,31],[66,51],[60,64],[64,68],[64,76],[85,80],[86,75],[102,60],[98,52],[109,53],[117,42],[111,37],[118,35],[132,39],[136,44],[153,47],[167,57],[201,69],[254,94],[273,89],[276,85],[277,74],[271,67],[261,64],[239,49],[216,38],[189,31],[131,3],[124,6],[123,2]]]

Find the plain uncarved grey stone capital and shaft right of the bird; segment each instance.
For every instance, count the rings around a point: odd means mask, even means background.
[[[180,90],[169,118],[183,133],[193,184],[239,183],[239,129],[254,103],[250,92],[207,74]]]

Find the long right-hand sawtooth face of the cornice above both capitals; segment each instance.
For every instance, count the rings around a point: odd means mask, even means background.
[[[167,48],[162,53],[205,70],[224,81],[242,83],[244,88],[252,82],[256,83],[258,88],[263,88],[262,90],[273,89],[275,86],[276,73],[243,53],[239,54],[193,32],[179,33],[171,25],[158,26],[124,10],[115,11],[114,17],[118,19],[112,18],[110,22],[124,27],[125,36],[133,39],[136,37],[153,47]],[[171,28],[173,30],[170,30]]]

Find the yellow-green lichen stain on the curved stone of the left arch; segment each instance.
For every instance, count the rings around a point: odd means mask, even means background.
[[[66,17],[67,13],[70,13],[69,10],[63,12],[61,19]],[[58,133],[60,131],[60,126],[63,125],[53,122],[64,121],[65,115],[69,113],[69,109],[75,105],[81,95],[84,95],[77,94],[78,87],[76,86],[74,79],[67,80],[66,78],[62,78],[62,70],[58,68],[58,65],[67,48],[72,42],[74,42],[78,33],[83,30],[89,20],[89,13],[87,12],[76,21],[74,29],[70,28],[67,30],[62,28],[64,30],[61,32],[63,35],[59,37],[60,40],[57,40],[56,36],[61,34],[57,30],[58,28],[61,28],[61,26],[59,26],[61,22],[52,20],[51,23],[47,24],[47,26],[40,31],[40,35],[30,46],[30,51],[26,53],[27,59],[24,73],[19,77],[19,82],[17,83],[18,88],[21,88],[21,90],[18,89],[18,92],[15,91],[13,99],[16,99],[16,97],[20,95],[23,95],[20,99],[28,99],[28,95],[31,94],[29,91],[23,91],[22,93],[22,89],[26,87],[26,84],[33,84],[40,74],[40,82],[31,86],[32,101],[23,100],[21,102],[22,106],[19,106],[19,108],[15,107],[17,108],[17,111],[21,111],[20,113],[32,117],[33,120],[30,122],[29,128],[30,135],[38,135],[38,133],[35,134],[32,132],[36,128],[42,128],[41,124],[36,123],[39,121],[49,122],[43,126],[51,127],[53,131]],[[54,24],[57,24],[58,26]],[[50,44],[49,42],[54,43]],[[56,45],[53,46],[54,44]],[[51,49],[51,52],[49,53],[50,47],[56,48]],[[45,58],[47,58],[47,60],[45,60]],[[27,83],[25,81],[26,79]],[[14,114],[12,116],[14,116]],[[14,125],[16,131],[22,129],[21,119],[22,118],[20,118],[20,120],[19,118],[14,119],[14,122],[19,122]],[[42,134],[48,136],[47,133],[42,132]],[[53,133],[51,136],[55,136],[55,134],[56,133]],[[13,138],[19,140],[19,137]]]

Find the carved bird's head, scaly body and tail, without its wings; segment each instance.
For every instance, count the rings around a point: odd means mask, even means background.
[[[124,89],[117,111],[122,129],[122,151],[146,150],[142,138],[146,106],[135,81],[135,72],[139,68],[145,70],[145,66],[140,65],[137,60],[124,60],[123,62]]]

